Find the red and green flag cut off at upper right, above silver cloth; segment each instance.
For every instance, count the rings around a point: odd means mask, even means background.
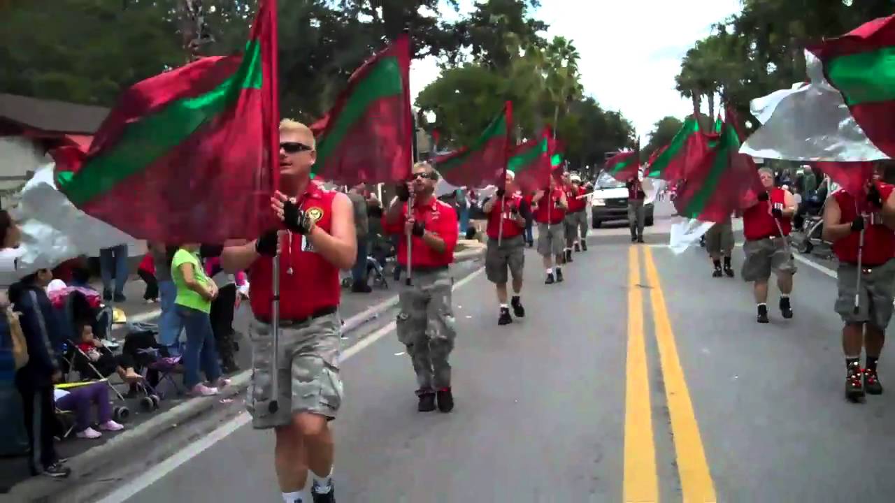
[[[873,144],[895,158],[895,15],[808,47]],[[868,159],[869,160],[869,159]]]

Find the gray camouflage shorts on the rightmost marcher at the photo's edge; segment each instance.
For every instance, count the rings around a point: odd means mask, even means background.
[[[845,323],[870,323],[876,328],[885,329],[892,317],[895,260],[864,269],[861,289],[858,291],[858,310],[855,312],[857,266],[840,262],[837,271],[839,295],[836,297],[835,310]]]

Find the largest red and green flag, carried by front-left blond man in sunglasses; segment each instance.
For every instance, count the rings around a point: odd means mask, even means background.
[[[277,188],[277,2],[262,0],[243,54],[138,82],[89,151],[61,155],[59,190],[138,239],[223,243],[273,222]]]

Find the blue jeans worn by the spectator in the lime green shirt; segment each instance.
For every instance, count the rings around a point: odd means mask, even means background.
[[[220,363],[217,362],[215,334],[211,331],[209,313],[197,311],[182,305],[177,306],[177,316],[183,320],[186,329],[186,351],[183,352],[183,385],[192,389],[201,382],[199,371],[212,383],[221,377]]]

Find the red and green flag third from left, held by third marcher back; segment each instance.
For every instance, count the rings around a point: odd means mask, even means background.
[[[501,184],[513,143],[513,103],[507,101],[473,145],[432,159],[439,175],[457,187]]]

